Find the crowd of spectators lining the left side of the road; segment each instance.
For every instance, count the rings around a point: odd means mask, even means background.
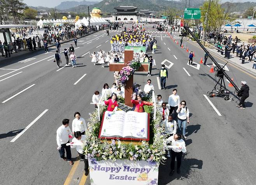
[[[79,28],[75,28],[74,24],[65,24],[63,26],[47,25],[44,27],[42,36],[36,34],[36,36],[33,37],[33,32],[36,31],[34,27],[24,29],[16,28],[11,34],[13,42],[7,43],[4,41],[2,43],[0,41],[0,55],[2,55],[2,57],[11,57],[12,52],[17,53],[21,50],[33,51],[36,50],[36,48],[44,48],[44,43],[47,43],[48,46],[48,44],[54,44],[57,41],[69,40],[91,32],[104,30],[108,27],[109,24],[102,24],[100,26],[82,26]],[[31,37],[29,37],[30,35]]]

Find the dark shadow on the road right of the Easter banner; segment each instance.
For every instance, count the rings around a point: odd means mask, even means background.
[[[175,173],[172,176],[169,176],[170,173],[170,163],[171,159],[167,158],[165,163],[160,164],[159,166],[159,173],[158,173],[158,185],[166,185],[172,180],[183,180],[183,179],[189,179],[190,176],[193,176],[193,171],[195,168],[202,169],[203,161],[199,159],[187,159],[187,154],[183,154],[182,161],[181,161],[181,173],[177,174],[176,172],[176,166],[177,163],[175,162]],[[184,183],[186,184],[186,183]]]

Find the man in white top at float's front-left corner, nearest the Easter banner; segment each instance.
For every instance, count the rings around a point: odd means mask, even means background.
[[[87,176],[89,174],[89,164],[88,159],[84,158],[83,154],[83,142],[85,140],[85,135],[82,135],[80,131],[74,132],[75,138],[72,139],[71,143],[67,143],[67,146],[71,146],[71,148],[76,148],[77,153],[81,159],[84,159],[84,175]]]

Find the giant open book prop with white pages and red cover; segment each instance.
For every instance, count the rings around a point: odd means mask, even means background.
[[[99,138],[149,140],[149,114],[135,111],[105,111]]]

